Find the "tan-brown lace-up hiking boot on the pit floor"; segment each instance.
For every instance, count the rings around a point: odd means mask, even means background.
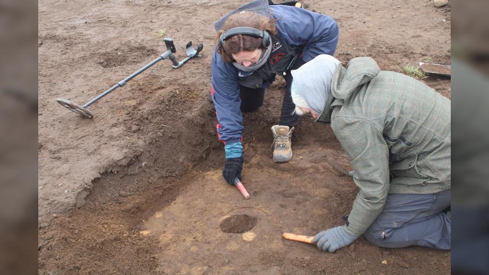
[[[292,132],[294,127],[274,125],[271,132],[274,133],[274,142],[271,144],[271,150],[274,151],[274,161],[277,163],[287,162],[292,158]]]

